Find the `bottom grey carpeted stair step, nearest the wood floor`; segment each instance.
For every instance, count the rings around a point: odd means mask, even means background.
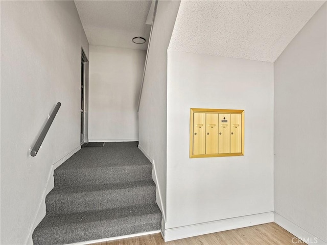
[[[33,233],[34,244],[67,244],[103,239],[161,228],[156,204],[92,212],[46,215]]]

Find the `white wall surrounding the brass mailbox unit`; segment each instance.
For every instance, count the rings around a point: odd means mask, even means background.
[[[272,212],[273,64],[168,50],[167,87],[166,234]],[[190,159],[190,108],[244,109],[245,155]]]

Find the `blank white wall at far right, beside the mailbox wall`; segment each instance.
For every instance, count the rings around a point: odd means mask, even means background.
[[[326,23],[327,6],[324,4],[274,64],[274,205],[279,218],[277,222],[282,226],[290,222],[291,228],[295,228],[294,235],[308,232],[325,243]]]

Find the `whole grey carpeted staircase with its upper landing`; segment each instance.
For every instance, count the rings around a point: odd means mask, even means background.
[[[67,244],[161,228],[152,165],[137,142],[82,148],[55,172],[34,244]]]

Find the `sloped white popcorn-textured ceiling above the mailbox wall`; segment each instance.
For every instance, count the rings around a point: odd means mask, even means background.
[[[169,48],[274,62],[324,1],[185,1]]]

